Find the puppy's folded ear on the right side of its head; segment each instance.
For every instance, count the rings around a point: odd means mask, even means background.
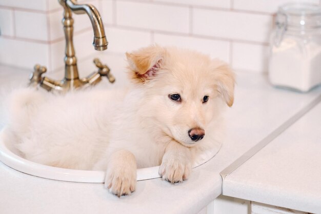
[[[216,90],[222,96],[228,106],[232,106],[234,102],[234,72],[228,64],[214,60],[214,75],[216,80]]]

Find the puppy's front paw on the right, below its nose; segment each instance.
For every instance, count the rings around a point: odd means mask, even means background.
[[[159,175],[166,181],[171,183],[182,182],[187,180],[191,171],[189,161],[179,159],[163,159],[162,165],[159,167]]]

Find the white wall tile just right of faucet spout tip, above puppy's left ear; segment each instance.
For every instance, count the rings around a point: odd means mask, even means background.
[[[149,32],[108,27],[106,36],[109,43],[106,52],[125,53],[151,44]]]

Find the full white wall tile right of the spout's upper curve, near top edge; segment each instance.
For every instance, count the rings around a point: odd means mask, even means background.
[[[117,25],[189,32],[189,8],[152,3],[116,2]]]

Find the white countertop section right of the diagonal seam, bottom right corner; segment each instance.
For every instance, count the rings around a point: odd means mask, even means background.
[[[224,180],[225,196],[321,213],[321,103]]]

